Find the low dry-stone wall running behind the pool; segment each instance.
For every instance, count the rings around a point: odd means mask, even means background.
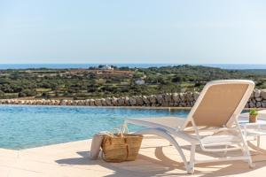
[[[2,99],[0,104],[33,105],[86,105],[86,106],[152,106],[152,107],[192,107],[199,92],[168,93],[157,96],[121,96],[86,100],[52,100],[52,99]],[[266,89],[255,89],[246,108],[266,108]]]

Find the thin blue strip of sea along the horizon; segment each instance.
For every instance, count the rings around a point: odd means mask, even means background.
[[[174,65],[203,65],[210,67],[218,67],[228,70],[246,70],[246,69],[266,69],[266,64],[122,64],[122,63],[98,63],[98,64],[0,64],[0,69],[38,69],[38,68],[49,68],[49,69],[74,69],[74,68],[89,68],[96,67],[98,65],[115,65],[118,67],[127,66],[129,68],[148,68],[148,67],[161,67],[161,66],[174,66]]]

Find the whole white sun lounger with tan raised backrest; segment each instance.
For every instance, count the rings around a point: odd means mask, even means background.
[[[187,173],[194,172],[195,164],[215,161],[245,160],[251,167],[252,159],[245,136],[239,127],[238,117],[253,89],[253,81],[211,81],[201,91],[187,119],[126,119],[125,123],[146,127],[135,134],[158,135],[167,139],[183,158]],[[175,138],[191,143],[190,160],[185,158]],[[198,160],[195,158],[196,145],[200,145],[201,150],[207,152],[225,152],[225,157]],[[226,154],[228,150],[242,150],[242,153],[229,157]]]

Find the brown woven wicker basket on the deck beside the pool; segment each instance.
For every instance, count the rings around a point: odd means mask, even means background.
[[[132,161],[137,158],[143,135],[104,135],[101,148],[106,162]]]

